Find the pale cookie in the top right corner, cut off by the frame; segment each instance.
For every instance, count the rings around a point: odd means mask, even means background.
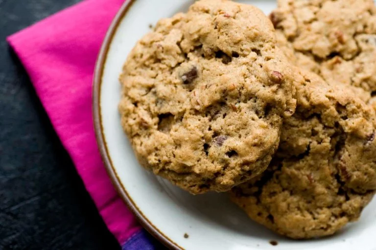
[[[376,91],[373,0],[279,0],[278,4],[270,18],[280,47],[290,47],[300,67],[327,81]]]

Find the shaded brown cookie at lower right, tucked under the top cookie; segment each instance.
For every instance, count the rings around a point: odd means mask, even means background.
[[[374,110],[348,89],[303,77],[277,156],[232,192],[253,220],[295,239],[333,234],[360,216],[376,190]]]

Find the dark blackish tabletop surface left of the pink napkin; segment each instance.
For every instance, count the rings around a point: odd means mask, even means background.
[[[78,0],[0,0],[0,250],[119,249],[5,37]]]

